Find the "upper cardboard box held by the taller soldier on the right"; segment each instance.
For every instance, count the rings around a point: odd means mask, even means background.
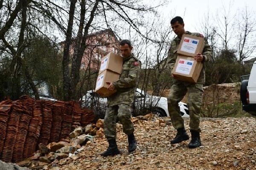
[[[177,49],[177,54],[194,57],[195,54],[202,53],[203,50],[204,37],[183,34]]]

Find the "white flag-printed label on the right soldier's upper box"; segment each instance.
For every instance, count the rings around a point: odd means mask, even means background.
[[[195,54],[195,50],[198,46],[198,42],[199,40],[189,38],[189,37],[184,37],[184,41],[181,45],[180,51]]]

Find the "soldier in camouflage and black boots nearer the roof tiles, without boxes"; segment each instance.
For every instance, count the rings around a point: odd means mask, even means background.
[[[104,133],[108,139],[108,149],[102,156],[116,155],[120,151],[116,145],[116,119],[118,117],[123,132],[128,135],[128,151],[137,148],[134,136],[134,125],[131,122],[131,103],[134,100],[135,89],[139,80],[141,62],[131,53],[132,46],[129,40],[122,40],[119,49],[123,57],[122,73],[118,80],[107,82],[108,90],[116,93],[108,97],[108,108],[104,119]]]

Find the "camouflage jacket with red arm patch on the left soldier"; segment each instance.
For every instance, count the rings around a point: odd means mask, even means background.
[[[140,77],[140,70],[141,62],[134,54],[123,60],[122,73],[119,79],[113,82],[116,93],[108,97],[108,106],[119,104],[131,105]]]

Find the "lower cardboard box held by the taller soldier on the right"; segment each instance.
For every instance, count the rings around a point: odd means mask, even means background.
[[[178,55],[172,74],[175,79],[196,83],[203,68],[193,57]]]

